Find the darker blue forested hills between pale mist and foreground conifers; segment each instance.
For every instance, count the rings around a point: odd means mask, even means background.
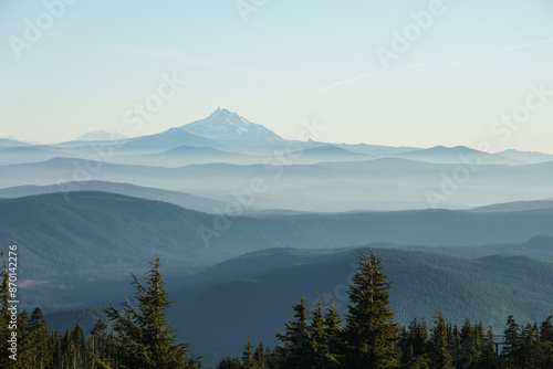
[[[121,183],[65,186],[206,201]],[[301,296],[311,303],[319,292],[327,303],[332,294],[343,310],[355,249],[367,245],[382,254],[394,282],[392,306],[401,324],[430,320],[438,309],[457,323],[470,316],[498,327],[508,314],[543,320],[553,304],[553,205],[511,208],[223,220],[167,202],[75,189],[0,200],[0,244],[19,244],[27,307],[66,309],[54,314],[58,328],[80,321],[88,329],[101,317],[98,306],[132,296],[128,273],[140,275],[159,255],[175,301],[171,324],[206,363],[215,363],[237,355],[248,336],[273,345]],[[201,228],[217,235],[206,243]]]

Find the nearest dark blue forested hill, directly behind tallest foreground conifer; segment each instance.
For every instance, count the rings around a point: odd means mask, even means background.
[[[441,310],[457,324],[471,317],[500,330],[509,314],[518,321],[551,315],[551,263],[504,255],[469,260],[373,246],[393,281],[390,304],[400,324],[415,317],[431,321]],[[303,296],[312,304],[319,294],[328,306],[333,295],[335,307],[346,310],[355,253],[286,249],[244,255],[202,273],[211,281],[223,275],[210,285],[173,291],[176,303],[170,318],[207,363],[239,355],[248,338],[273,346],[274,334],[292,318],[292,304]]]

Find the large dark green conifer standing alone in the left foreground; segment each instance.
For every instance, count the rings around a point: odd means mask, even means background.
[[[117,356],[121,368],[140,369],[188,369],[199,368],[197,359],[188,358],[188,344],[176,344],[175,331],[167,324],[165,310],[171,305],[167,299],[161,280],[159,257],[150,263],[144,286],[133,275],[137,307],[128,301],[123,312],[113,304],[106,308],[117,339]]]

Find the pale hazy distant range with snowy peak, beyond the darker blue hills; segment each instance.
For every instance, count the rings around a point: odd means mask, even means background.
[[[294,141],[223,108],[159,134],[96,140],[106,135],[58,145],[0,139],[0,189],[92,180],[228,203],[263,180],[246,212],[470,209],[553,198],[553,156],[541,152]]]

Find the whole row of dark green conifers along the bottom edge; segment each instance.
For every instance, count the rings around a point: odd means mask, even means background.
[[[430,327],[424,319],[399,327],[389,307],[392,284],[380,257],[373,252],[359,253],[358,263],[345,316],[332,305],[323,308],[321,301],[307,306],[302,299],[294,304],[293,318],[284,324],[284,330],[276,334],[276,347],[249,340],[242,357],[225,358],[218,368],[553,368],[553,317],[519,326],[509,316],[501,337],[469,318],[461,327],[451,325],[441,313]],[[177,342],[166,320],[170,302],[159,268],[157,259],[145,284],[133,275],[135,302],[124,301],[122,309],[107,307],[111,321],[98,320],[86,335],[79,324],[64,333],[49,333],[40,307],[31,314],[19,313],[17,328],[10,329],[4,263],[0,276],[0,367],[201,368],[201,358],[189,352],[188,344]],[[15,356],[8,350],[13,334]]]

